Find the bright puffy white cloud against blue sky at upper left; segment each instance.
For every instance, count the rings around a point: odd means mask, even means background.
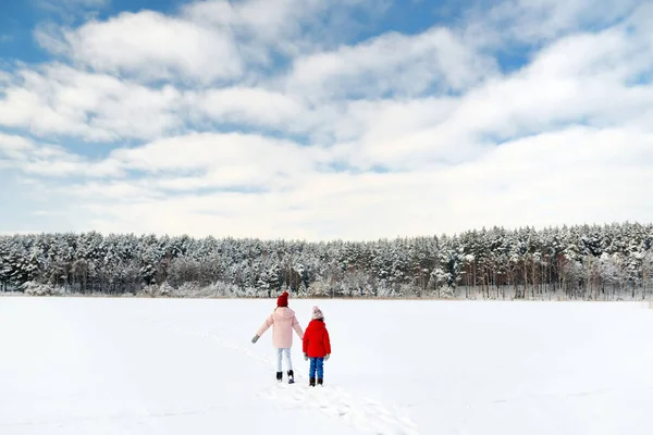
[[[298,41],[305,33],[315,32],[313,20],[317,26],[318,17],[330,10],[375,3],[198,1],[176,15],[141,10],[107,21],[91,20],[77,28],[40,26],[35,38],[50,52],[99,72],[148,83],[167,79],[208,86],[254,76],[247,67],[269,65],[272,52],[292,54],[312,48],[310,38]]]

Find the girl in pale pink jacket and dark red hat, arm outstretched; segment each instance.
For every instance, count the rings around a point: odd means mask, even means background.
[[[288,383],[295,382],[295,374],[293,373],[293,361],[291,359],[291,347],[293,347],[293,330],[299,336],[299,339],[304,339],[304,331],[295,316],[295,311],[288,308],[288,294],[284,291],[276,300],[276,308],[274,312],[266,319],[261,327],[256,332],[256,335],[251,339],[251,343],[258,341],[270,326],[272,327],[272,345],[276,348],[276,381],[283,380],[283,371],[281,366],[281,357],[285,355],[287,368],[288,368]]]

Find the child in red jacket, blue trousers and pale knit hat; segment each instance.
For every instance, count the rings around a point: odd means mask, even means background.
[[[318,385],[323,385],[324,361],[331,356],[331,341],[329,331],[324,324],[324,315],[318,307],[313,307],[311,321],[304,333],[304,359],[310,359],[308,371],[309,386],[316,386],[316,372]]]

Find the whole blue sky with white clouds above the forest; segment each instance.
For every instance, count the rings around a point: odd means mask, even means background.
[[[653,3],[0,2],[0,234],[651,222]]]

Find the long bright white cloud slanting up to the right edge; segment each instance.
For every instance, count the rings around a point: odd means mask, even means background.
[[[477,158],[493,140],[569,124],[645,125],[653,86],[632,84],[650,70],[650,42],[623,27],[569,36],[512,76],[460,98],[353,102],[335,123],[335,149],[357,167],[396,170]]]

